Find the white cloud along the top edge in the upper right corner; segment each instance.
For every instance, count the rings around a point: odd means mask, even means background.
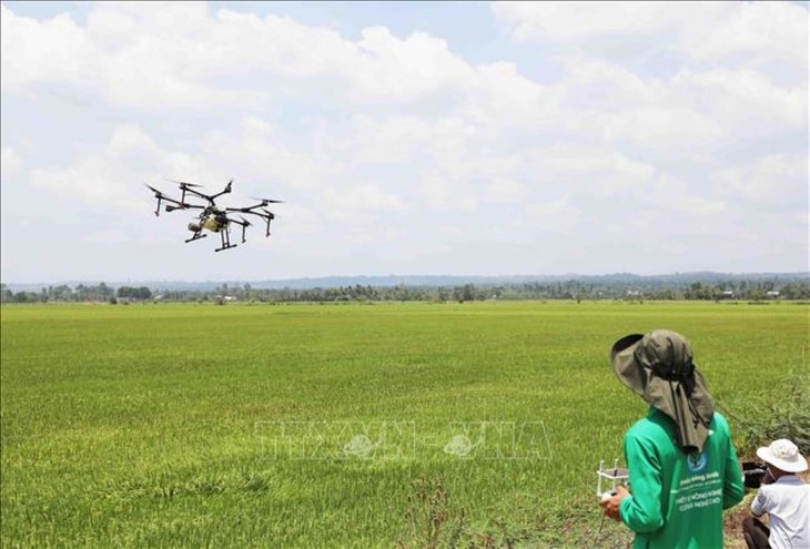
[[[616,38],[695,62],[782,69],[807,80],[808,12],[796,2],[493,2],[518,40],[543,40],[610,55]],[[632,57],[631,52],[628,58]]]

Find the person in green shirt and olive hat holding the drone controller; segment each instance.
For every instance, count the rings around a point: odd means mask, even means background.
[[[649,403],[625,434],[631,491],[600,505],[636,532],[634,548],[722,548],[722,511],[745,496],[728,421],[692,362],[689,342],[656,329],[610,349],[616,376]]]

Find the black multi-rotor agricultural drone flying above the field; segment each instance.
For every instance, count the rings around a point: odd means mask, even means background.
[[[160,206],[164,202],[166,203],[164,206],[164,211],[166,212],[174,212],[176,210],[200,210],[201,212],[196,220],[189,223],[189,231],[193,234],[191,238],[188,238],[185,242],[188,244],[189,242],[199,241],[200,238],[207,236],[207,234],[203,233],[203,230],[211,231],[212,233],[220,233],[222,245],[214,250],[214,252],[222,252],[223,250],[236,247],[236,244],[231,243],[232,224],[240,225],[242,227],[242,244],[245,243],[245,231],[252,225],[252,223],[245,220],[244,215],[255,215],[265,221],[266,231],[264,235],[270,236],[270,222],[275,218],[275,215],[270,210],[266,210],[266,206],[269,204],[282,203],[280,200],[253,199],[257,201],[257,204],[252,206],[220,207],[216,205],[215,201],[223,194],[229,194],[231,192],[233,179],[227,182],[225,189],[215,194],[204,194],[196,191],[196,189],[202,185],[196,185],[194,183],[176,180],[166,181],[171,181],[172,183],[180,185],[180,200],[172,199],[171,196],[163,194],[162,191],[159,191],[151,185],[146,185],[149,190],[154,193],[154,197],[158,199],[158,207],[155,209],[154,214],[160,215]],[[240,215],[237,218],[231,216],[231,214],[235,213],[243,215]]]

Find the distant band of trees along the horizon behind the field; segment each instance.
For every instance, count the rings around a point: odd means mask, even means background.
[[[295,302],[473,302],[484,299],[628,299],[628,301],[766,301],[810,299],[808,279],[735,279],[727,282],[661,283],[594,282],[570,279],[565,282],[534,282],[508,284],[463,284],[449,286],[395,286],[346,285],[315,288],[254,288],[250,284],[213,289],[149,288],[146,286],[119,286],[105,283],[97,285],[67,284],[42,287],[37,292],[12,292],[0,285],[2,303],[64,303],[107,302],[213,302],[230,301],[259,303]]]

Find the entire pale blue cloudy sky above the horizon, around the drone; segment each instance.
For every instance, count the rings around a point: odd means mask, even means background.
[[[796,2],[3,2],[3,282],[808,270]],[[284,200],[215,254],[149,183]],[[223,199],[224,200],[224,199]],[[237,238],[237,236],[235,236]]]

